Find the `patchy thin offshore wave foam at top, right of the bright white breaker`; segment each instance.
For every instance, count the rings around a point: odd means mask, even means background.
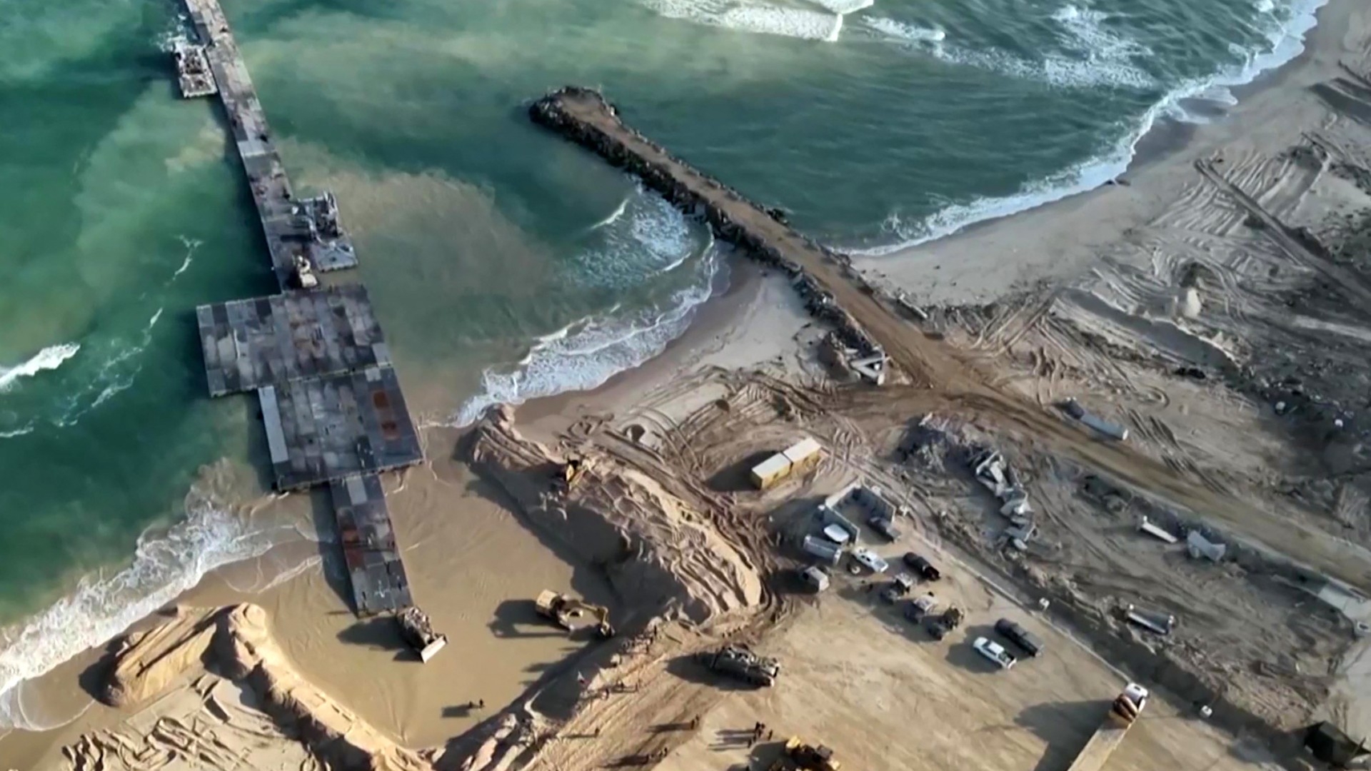
[[[1102,22],[1106,18],[1101,11],[1080,10],[1076,5],[1058,8],[1052,19],[1063,30],[1063,44],[1078,56],[1046,55],[1041,60],[1024,59],[999,48],[973,49],[946,43],[946,33],[936,27],[883,16],[869,16],[862,22],[890,40],[913,44],[917,51],[949,64],[1041,81],[1057,88],[1156,88],[1156,78],[1134,63],[1150,51],[1105,29]]]

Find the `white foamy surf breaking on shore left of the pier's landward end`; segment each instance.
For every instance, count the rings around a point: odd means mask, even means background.
[[[288,527],[252,530],[214,495],[192,487],[186,519],[138,538],[133,562],[77,589],[26,623],[0,631],[0,730],[51,728],[26,715],[16,689],[78,653],[104,643],[173,601],[207,572],[270,550]]]

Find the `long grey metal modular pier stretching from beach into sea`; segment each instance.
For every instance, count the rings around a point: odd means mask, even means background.
[[[278,490],[329,486],[359,615],[413,606],[380,472],[424,460],[361,284],[292,288],[356,265],[333,196],[296,200],[217,0],[185,0],[197,41],[175,48],[185,97],[218,95],[281,294],[196,309],[211,396],[255,391]],[[206,67],[208,73],[206,73]]]

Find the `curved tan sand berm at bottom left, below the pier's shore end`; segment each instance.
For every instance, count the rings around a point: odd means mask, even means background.
[[[256,605],[178,609],[156,628],[130,635],[115,653],[103,694],[134,707],[208,665],[245,685],[262,709],[333,768],[430,771],[418,753],[359,719],[304,680],[271,637]]]

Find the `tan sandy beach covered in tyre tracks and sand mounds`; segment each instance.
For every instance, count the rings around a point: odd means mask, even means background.
[[[728,291],[653,361],[426,428],[426,462],[387,475],[413,594],[448,637],[435,660],[418,663],[391,619],[352,615],[321,501],[263,498],[252,506],[302,538],[214,571],[180,615],[134,628],[152,634],[29,683],[33,715],[77,717],[0,737],[0,767],[703,771],[765,768],[795,734],[851,768],[1047,768],[1128,680],[1157,698],[1109,768],[1301,767],[1302,726],[1371,735],[1353,635],[1371,621],[1371,466],[1353,431],[1371,353],[1368,22],[1364,4],[1331,0],[1300,58],[1206,125],[1158,125],[1117,184],[854,257],[871,295],[920,309],[898,328],[964,368],[956,383],[930,366],[927,387],[898,372],[876,387],[827,365],[829,327],[792,278],[732,257]],[[956,391],[972,380],[1038,417]],[[1067,420],[1053,406],[1067,398],[1128,427],[1127,451],[1189,487],[1091,466],[1102,439],[1071,454],[1035,434],[1032,420]],[[751,464],[805,436],[824,446],[816,471],[749,487]],[[1021,549],[953,462],[978,447],[1004,451],[1032,491]],[[588,471],[559,487],[573,454]],[[895,542],[864,542],[943,565],[941,606],[967,610],[954,635],[877,601],[879,576],[834,571],[820,598],[799,590],[814,503],[856,480],[905,508]],[[1187,490],[1209,498],[1185,508]],[[1226,561],[1138,535],[1139,516],[1226,542]],[[618,637],[539,617],[547,589],[609,608]],[[1130,626],[1119,608],[1134,602],[1176,630]],[[969,641],[1004,616],[1049,653],[986,668]],[[725,642],[781,659],[776,687],[695,664]],[[747,741],[755,722],[776,737]],[[891,738],[910,724],[930,730]]]

